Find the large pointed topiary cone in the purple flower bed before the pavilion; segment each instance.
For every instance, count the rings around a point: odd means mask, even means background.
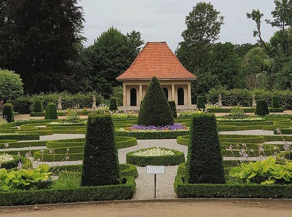
[[[149,83],[143,102],[140,105],[138,125],[173,125],[173,117],[164,91],[156,77]]]

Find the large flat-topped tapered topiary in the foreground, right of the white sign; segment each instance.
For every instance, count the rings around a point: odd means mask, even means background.
[[[197,113],[191,117],[185,183],[225,183],[214,114]]]

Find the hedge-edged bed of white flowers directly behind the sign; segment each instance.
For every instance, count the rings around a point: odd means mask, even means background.
[[[184,153],[178,150],[164,148],[148,148],[128,152],[126,155],[127,164],[140,167],[147,165],[178,165],[185,162]]]

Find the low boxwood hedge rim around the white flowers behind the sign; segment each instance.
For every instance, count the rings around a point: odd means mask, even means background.
[[[153,149],[140,149],[140,150],[149,150]],[[171,150],[174,152],[174,155],[164,155],[164,156],[135,156],[133,155],[135,152],[140,150],[135,150],[128,152],[126,155],[126,162],[127,164],[133,164],[137,165],[139,167],[146,167],[147,165],[164,165],[164,166],[170,166],[170,165],[179,165],[183,162],[185,162],[184,159],[184,153],[178,150],[172,150],[172,149],[164,149],[163,150]]]

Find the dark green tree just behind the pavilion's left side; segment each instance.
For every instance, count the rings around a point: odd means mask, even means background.
[[[86,50],[91,67],[91,86],[106,98],[112,87],[119,85],[116,78],[125,72],[141,50],[141,33],[133,30],[127,35],[110,27]]]

